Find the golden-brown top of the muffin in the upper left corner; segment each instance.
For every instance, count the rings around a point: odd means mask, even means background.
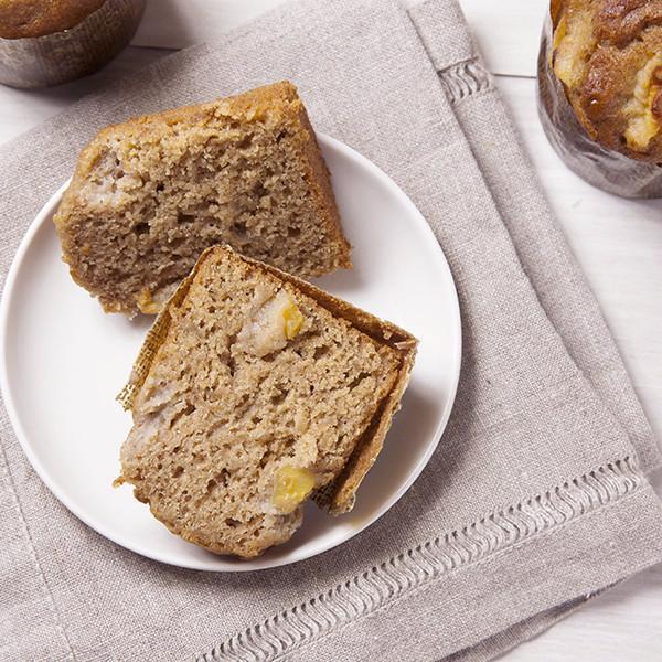
[[[70,30],[105,1],[0,0],[0,38],[34,38]]]

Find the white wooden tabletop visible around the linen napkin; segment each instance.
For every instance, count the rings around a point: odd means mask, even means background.
[[[102,88],[109,79],[162,57],[168,50],[205,41],[281,2],[148,0],[134,45],[98,74],[39,92],[0,86],[0,142]],[[460,2],[662,438],[662,200],[629,202],[592,189],[563,166],[545,140],[535,110],[534,77],[546,0]],[[662,493],[660,477],[655,483]],[[505,659],[662,660],[662,565],[596,599]]]

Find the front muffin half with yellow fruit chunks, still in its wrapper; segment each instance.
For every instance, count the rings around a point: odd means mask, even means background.
[[[135,366],[118,481],[184,540],[256,556],[290,538],[313,491],[351,508],[415,351],[402,329],[211,248]]]

